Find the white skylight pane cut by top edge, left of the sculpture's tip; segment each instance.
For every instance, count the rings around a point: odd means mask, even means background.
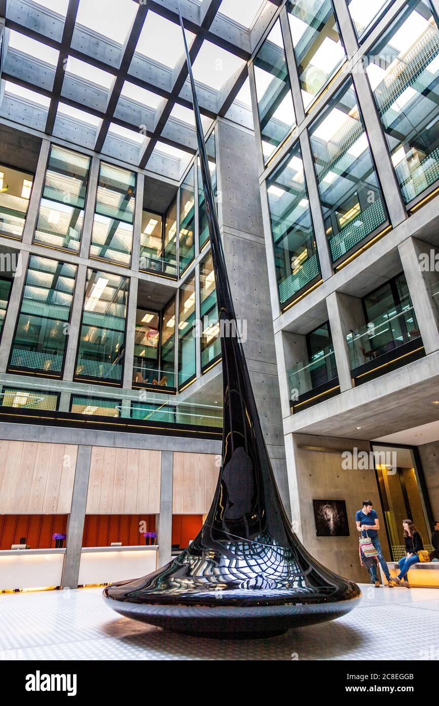
[[[123,44],[138,7],[133,0],[80,0],[76,23]]]

